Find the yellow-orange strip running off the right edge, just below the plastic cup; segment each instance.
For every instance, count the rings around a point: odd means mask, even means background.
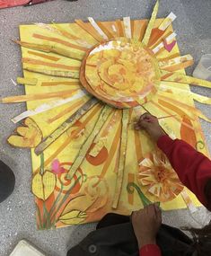
[[[203,79],[198,79],[196,77],[192,77],[189,75],[183,75],[180,73],[172,73],[167,71],[162,71],[162,81],[169,81],[169,82],[177,82],[181,84],[192,84],[202,87],[211,88],[211,82]]]

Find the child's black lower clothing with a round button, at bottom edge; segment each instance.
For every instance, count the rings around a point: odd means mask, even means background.
[[[162,225],[157,235],[157,244],[163,256],[190,256],[194,250],[192,240],[179,229]],[[96,231],[67,252],[67,256],[138,256],[138,247],[133,226],[128,216],[108,214],[97,225]]]

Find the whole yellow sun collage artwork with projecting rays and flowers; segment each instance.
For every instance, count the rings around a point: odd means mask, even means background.
[[[179,181],[166,156],[134,124],[155,115],[172,138],[208,156],[199,119],[208,119],[189,84],[211,83],[185,75],[193,64],[180,56],[170,13],[150,20],[21,25],[25,95],[3,103],[27,102],[13,118],[8,137],[31,148],[31,191],[39,229],[84,224],[108,212],[129,215],[151,202],[163,210],[200,206]]]

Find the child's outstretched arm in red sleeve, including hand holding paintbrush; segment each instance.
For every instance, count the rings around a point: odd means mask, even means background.
[[[160,127],[158,119],[148,113],[142,115],[136,123],[136,129],[140,128],[145,129],[167,155],[180,181],[210,209],[211,161],[185,141],[168,137]]]

